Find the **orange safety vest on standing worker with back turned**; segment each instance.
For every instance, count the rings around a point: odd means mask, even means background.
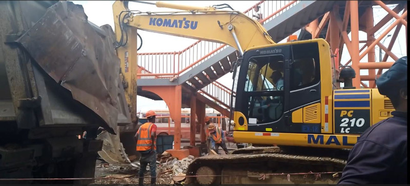
[[[146,122],[138,129],[137,151],[147,151],[151,149],[151,127],[154,123]],[[156,136],[155,136],[156,138]],[[156,140],[154,139],[154,150],[156,150]]]

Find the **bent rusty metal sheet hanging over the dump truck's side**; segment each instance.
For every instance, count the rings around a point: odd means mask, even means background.
[[[83,7],[60,1],[17,42],[75,100],[106,122],[101,127],[116,133],[122,105],[118,103],[120,60],[113,48],[112,28],[104,26],[108,32],[104,35],[93,27]]]

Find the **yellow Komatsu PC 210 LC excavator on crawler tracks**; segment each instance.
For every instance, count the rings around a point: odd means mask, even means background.
[[[291,38],[277,44],[256,20],[233,9],[157,2],[148,4],[183,11],[141,12],[130,10],[129,2],[116,1],[113,15],[116,51],[133,122],[137,121],[138,29],[227,44],[240,54],[232,68],[236,96],[232,97],[230,134],[236,142],[254,147],[195,159],[187,175],[197,177],[187,177],[186,183],[336,183],[348,149],[361,133],[391,117],[394,110],[377,89],[355,89],[352,68],[345,67],[336,76],[324,39]],[[344,82],[343,89],[337,88],[337,79]],[[107,138],[103,135],[101,139]]]

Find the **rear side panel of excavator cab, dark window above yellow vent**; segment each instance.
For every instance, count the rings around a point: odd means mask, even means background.
[[[292,133],[320,133],[320,61],[318,43],[291,46],[292,60],[286,61],[285,85],[289,87],[289,112],[286,123]],[[292,118],[298,111],[302,117]]]

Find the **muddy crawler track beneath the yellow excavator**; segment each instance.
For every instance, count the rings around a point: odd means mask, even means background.
[[[249,147],[235,150],[227,155],[199,157],[188,167],[186,183],[199,185],[335,184],[341,176],[338,172],[343,170],[348,155],[348,152],[340,150],[335,150],[338,155],[334,157],[324,157],[314,155],[327,151],[325,149],[314,148],[314,152],[304,149],[284,149],[286,151],[278,147]],[[301,153],[301,151],[305,152]]]

